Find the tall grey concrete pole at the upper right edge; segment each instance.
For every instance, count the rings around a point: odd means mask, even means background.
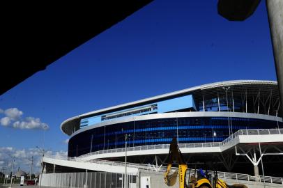
[[[283,1],[266,0],[268,22],[273,44],[273,56],[283,111]],[[283,117],[283,114],[280,114]]]

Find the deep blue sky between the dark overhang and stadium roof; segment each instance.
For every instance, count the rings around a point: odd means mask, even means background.
[[[216,0],[155,0],[0,96],[0,118],[10,118],[0,125],[0,166],[7,148],[29,157],[43,147],[45,124],[45,149],[63,152],[67,118],[233,79],[276,79],[265,2],[229,22]]]

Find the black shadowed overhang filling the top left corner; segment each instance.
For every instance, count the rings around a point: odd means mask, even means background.
[[[151,1],[2,5],[0,95]]]

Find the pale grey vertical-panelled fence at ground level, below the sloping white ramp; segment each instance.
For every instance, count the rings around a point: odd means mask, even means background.
[[[41,186],[45,187],[122,188],[125,182],[125,175],[107,172],[43,173],[42,177]],[[134,188],[136,184],[136,175],[128,174],[128,187]]]

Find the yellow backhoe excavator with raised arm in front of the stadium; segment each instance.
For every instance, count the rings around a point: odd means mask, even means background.
[[[185,174],[188,166],[183,159],[183,155],[178,147],[176,138],[173,138],[170,143],[168,158],[169,162],[167,171],[165,172],[165,184],[168,186],[175,185],[179,173],[179,188],[247,188],[247,186],[243,184],[227,185],[224,180],[217,178],[217,173],[215,173],[215,178],[212,182],[213,185],[205,175],[200,175],[198,178],[195,178],[195,175],[191,176],[190,182],[187,185],[185,182]],[[170,169],[173,162],[178,163],[178,170],[170,174]]]

